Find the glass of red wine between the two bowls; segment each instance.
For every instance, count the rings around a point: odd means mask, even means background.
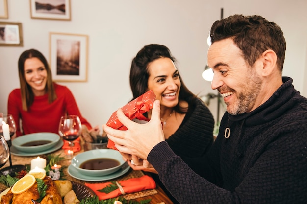
[[[59,124],[59,134],[64,140],[69,141],[70,156],[73,159],[73,141],[77,139],[82,131],[80,118],[77,115],[62,116]]]

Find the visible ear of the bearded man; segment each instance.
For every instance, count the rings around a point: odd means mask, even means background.
[[[261,75],[268,76],[277,69],[277,55],[272,49],[264,51],[260,57],[261,61]]]

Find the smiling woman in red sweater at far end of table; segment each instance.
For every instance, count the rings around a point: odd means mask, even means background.
[[[72,92],[52,81],[51,69],[41,52],[24,51],[19,57],[18,70],[20,89],[9,94],[7,109],[16,122],[16,136],[38,132],[58,134],[60,118],[65,114],[78,115],[82,125],[92,129],[82,117]]]

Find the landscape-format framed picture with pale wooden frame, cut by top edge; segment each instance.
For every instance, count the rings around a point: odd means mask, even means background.
[[[30,0],[32,19],[70,20],[70,0]]]

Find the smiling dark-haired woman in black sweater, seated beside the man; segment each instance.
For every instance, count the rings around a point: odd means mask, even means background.
[[[152,90],[161,102],[160,118],[164,137],[180,157],[200,157],[213,142],[214,119],[205,104],[184,85],[176,60],[164,45],[144,46],[134,57],[130,69],[133,99]],[[147,112],[151,118],[151,111]],[[147,114],[145,113],[145,114]],[[133,169],[156,170],[130,164]],[[162,183],[160,183],[161,186]],[[164,189],[167,192],[166,189]],[[178,202],[169,194],[174,204]]]

